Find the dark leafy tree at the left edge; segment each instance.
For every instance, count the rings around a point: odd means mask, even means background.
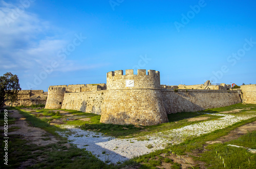
[[[18,91],[22,90],[19,87],[18,76],[7,72],[3,76],[0,76],[0,107],[4,105],[6,101],[10,101],[11,104],[17,100]]]

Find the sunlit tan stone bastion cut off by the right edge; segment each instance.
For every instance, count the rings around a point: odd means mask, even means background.
[[[256,104],[256,85],[241,85],[244,103]]]

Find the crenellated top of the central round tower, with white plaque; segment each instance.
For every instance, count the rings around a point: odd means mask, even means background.
[[[160,72],[138,69],[134,74],[133,69],[111,71],[106,74],[107,90],[116,89],[160,89]]]

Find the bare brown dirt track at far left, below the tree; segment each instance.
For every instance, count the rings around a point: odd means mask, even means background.
[[[20,135],[23,139],[29,140],[30,144],[36,144],[38,146],[56,144],[59,141],[45,130],[38,127],[31,127],[26,119],[19,114],[18,110],[9,110],[8,115],[17,119],[15,124],[10,124],[8,128],[19,127],[19,129],[9,132],[8,135]]]

